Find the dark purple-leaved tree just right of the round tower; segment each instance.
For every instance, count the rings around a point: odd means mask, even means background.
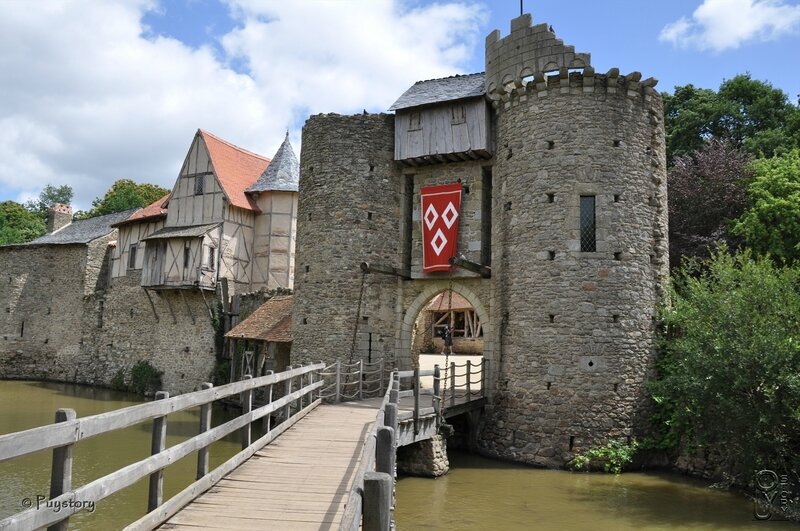
[[[749,160],[720,140],[674,160],[667,174],[672,267],[682,257],[707,257],[714,243],[733,242],[728,225],[747,206]]]

